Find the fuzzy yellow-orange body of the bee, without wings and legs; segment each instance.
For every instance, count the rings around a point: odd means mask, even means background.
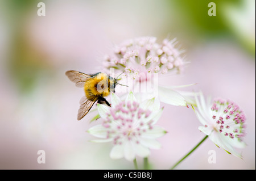
[[[109,76],[105,73],[98,73],[95,77],[86,79],[84,85],[86,97],[96,100],[98,96],[108,96],[110,94],[109,82]]]

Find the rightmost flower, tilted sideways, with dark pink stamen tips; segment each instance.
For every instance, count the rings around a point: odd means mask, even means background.
[[[200,94],[196,97],[196,116],[204,125],[199,130],[207,134],[218,147],[241,158],[234,148],[244,148],[245,114],[230,100],[216,99],[213,103],[205,103]]]

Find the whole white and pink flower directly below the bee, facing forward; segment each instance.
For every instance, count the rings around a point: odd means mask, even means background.
[[[93,142],[113,143],[111,158],[125,157],[131,161],[135,155],[147,157],[150,149],[160,148],[155,139],[166,133],[155,125],[163,111],[160,103],[154,99],[139,103],[130,92],[125,101],[112,94],[111,106],[97,104],[103,122],[88,130],[93,136],[102,138]]]

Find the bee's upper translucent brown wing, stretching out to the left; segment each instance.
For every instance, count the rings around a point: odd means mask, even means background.
[[[72,82],[76,83],[77,87],[84,87],[84,83],[85,83],[86,79],[91,78],[90,75],[81,73],[80,71],[76,71],[76,70],[66,71],[65,74],[68,76],[68,78]]]

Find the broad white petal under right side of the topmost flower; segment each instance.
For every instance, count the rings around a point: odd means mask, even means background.
[[[171,104],[173,106],[187,106],[184,97],[177,91],[165,87],[158,87],[158,92],[160,101],[163,103]]]

